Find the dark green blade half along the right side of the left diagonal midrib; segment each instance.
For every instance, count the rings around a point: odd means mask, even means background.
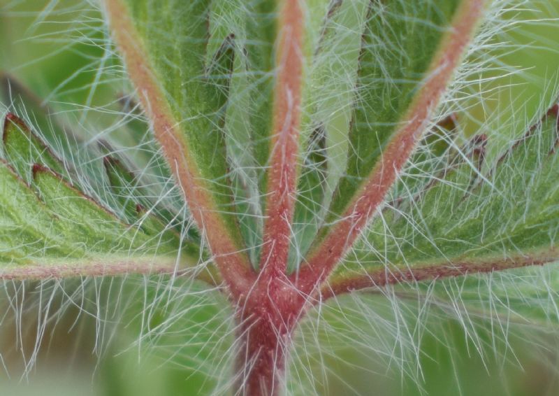
[[[138,39],[145,45],[147,64],[182,131],[190,163],[212,192],[229,232],[240,239],[235,218],[227,215],[234,210],[223,131],[235,39],[226,36],[206,62],[210,3],[170,1],[161,7],[158,1],[127,1]]]

